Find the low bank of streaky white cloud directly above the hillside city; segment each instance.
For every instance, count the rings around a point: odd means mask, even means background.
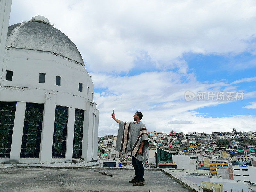
[[[184,94],[187,90],[195,93],[216,92],[222,89],[228,90],[228,84],[223,82],[200,83],[193,77],[184,83],[184,79],[192,74],[178,74],[173,72],[150,72],[134,76],[113,76],[92,74],[95,87],[106,89],[108,95],[96,94],[95,102],[100,110],[99,133],[108,133],[108,127],[112,134],[117,133],[118,124],[111,118],[115,109],[116,118],[123,121],[132,121],[137,110],[143,113],[142,121],[149,131],[158,130],[170,132],[173,128],[176,132],[207,132],[237,130],[255,130],[255,116],[232,116],[213,118],[208,114],[198,113],[198,108],[211,107],[228,102],[239,101],[193,101],[186,102]],[[137,82],[142,81],[139,88]],[[230,90],[230,89],[229,89]],[[231,90],[234,87],[231,86]],[[211,108],[209,108],[211,113]],[[170,123],[171,122],[171,123]],[[193,122],[193,123],[191,123]]]

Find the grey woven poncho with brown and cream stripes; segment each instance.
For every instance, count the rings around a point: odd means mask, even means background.
[[[144,141],[142,154],[138,154],[141,142]],[[120,121],[118,135],[116,140],[116,151],[131,152],[137,160],[145,163],[147,161],[146,150],[149,147],[148,133],[145,125],[141,122],[123,122]]]

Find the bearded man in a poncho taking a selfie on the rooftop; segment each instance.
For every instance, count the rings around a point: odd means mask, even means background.
[[[135,122],[128,123],[116,119],[115,114],[112,113],[112,118],[119,123],[115,150],[131,152],[135,177],[129,183],[133,183],[134,186],[144,186],[143,163],[147,160],[146,151],[149,147],[147,129],[140,121],[142,116],[143,114],[137,111],[133,116]]]

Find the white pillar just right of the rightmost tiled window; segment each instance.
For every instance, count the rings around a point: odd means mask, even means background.
[[[86,102],[86,111],[84,112],[84,127],[82,141],[82,158],[86,161],[92,161],[92,125],[93,125],[93,103]]]

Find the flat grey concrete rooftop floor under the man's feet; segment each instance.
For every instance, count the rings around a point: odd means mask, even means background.
[[[8,168],[0,170],[0,191],[29,192],[190,192],[161,171],[145,171],[145,186],[129,183],[133,170],[95,169],[114,174],[109,177],[93,169]]]

